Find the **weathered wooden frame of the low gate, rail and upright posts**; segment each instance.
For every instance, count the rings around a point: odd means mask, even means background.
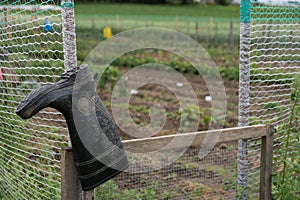
[[[228,128],[220,130],[210,130],[195,133],[185,133],[176,135],[167,135],[153,138],[133,139],[123,141],[124,149],[134,152],[150,152],[165,147],[169,142],[173,142],[176,138],[176,148],[202,145],[206,135],[215,135],[218,137],[218,143],[236,141],[241,139],[261,138],[261,164],[260,164],[260,199],[271,199],[271,174],[272,174],[272,158],[273,158],[273,133],[272,126],[257,125],[247,127]],[[192,139],[192,142],[186,143]],[[174,145],[172,145],[174,146]],[[62,151],[62,199],[76,199],[78,179],[73,160],[73,154],[70,149]],[[84,194],[85,200],[93,199],[93,192]]]

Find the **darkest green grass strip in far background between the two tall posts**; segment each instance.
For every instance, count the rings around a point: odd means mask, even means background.
[[[136,15],[136,16],[194,16],[239,18],[239,6],[216,5],[142,5],[142,4],[80,4],[75,5],[80,15]]]

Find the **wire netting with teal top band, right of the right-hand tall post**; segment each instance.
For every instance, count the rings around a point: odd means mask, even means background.
[[[290,111],[300,72],[300,6],[254,4],[251,9],[250,122],[280,125]],[[280,138],[277,138],[280,139]]]

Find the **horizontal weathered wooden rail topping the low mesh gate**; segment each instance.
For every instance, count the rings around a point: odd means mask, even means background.
[[[273,133],[273,127],[268,125],[255,125],[246,127],[236,127],[218,130],[201,131],[194,133],[183,133],[175,135],[158,136],[151,138],[141,138],[124,140],[123,146],[125,150],[131,152],[151,152],[162,147],[168,148],[185,148],[187,146],[199,146],[202,145],[206,138],[206,143],[210,142],[207,139],[217,138],[217,142],[229,142],[240,139],[260,138],[267,136],[269,133]],[[192,141],[192,142],[189,142]],[[172,145],[167,145],[172,142]]]

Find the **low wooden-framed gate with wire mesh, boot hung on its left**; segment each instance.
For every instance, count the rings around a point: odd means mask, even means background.
[[[237,141],[256,139],[260,142],[256,162],[263,176],[256,177],[260,193],[256,199],[271,199],[273,150],[272,126],[256,125],[194,133],[158,136],[123,141],[128,154],[129,169],[95,190],[96,199],[236,199]],[[200,159],[198,154],[208,149],[201,147],[207,135],[220,134],[217,145]],[[159,151],[161,146],[178,139],[176,146]],[[180,141],[193,138],[192,144]],[[175,162],[169,155],[186,149]],[[134,152],[133,152],[134,151]],[[171,153],[171,154],[170,154]],[[62,156],[62,199],[76,198],[75,163],[70,149]],[[154,159],[153,159],[154,158]],[[155,166],[163,165],[160,169]],[[66,167],[69,167],[68,169]],[[86,200],[93,199],[91,191]]]

